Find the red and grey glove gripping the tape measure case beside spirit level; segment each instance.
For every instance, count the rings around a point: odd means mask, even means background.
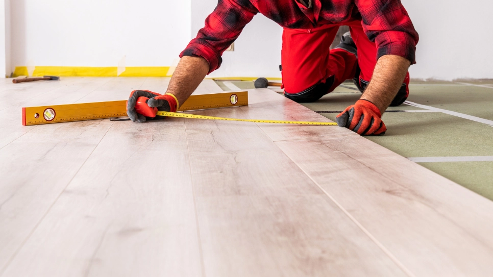
[[[127,114],[133,122],[140,123],[153,118],[164,118],[164,116],[150,117],[139,114],[135,109],[135,105],[137,104],[139,97],[149,98],[146,102],[147,105],[151,108],[156,107],[159,111],[176,112],[178,109],[178,100],[171,94],[161,95],[157,92],[152,92],[149,90],[134,90],[130,93],[129,100],[127,101]]]

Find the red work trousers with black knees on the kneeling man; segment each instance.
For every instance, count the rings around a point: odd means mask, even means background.
[[[297,102],[313,102],[333,91],[342,82],[355,78],[363,88],[372,79],[377,63],[375,42],[363,32],[361,21],[347,23],[358,49],[358,57],[344,49],[329,47],[339,25],[326,25],[311,30],[284,29],[282,45],[282,82],[285,95]],[[409,73],[403,84],[398,105],[409,94]],[[399,96],[399,95],[398,95]],[[402,100],[402,101],[401,101]],[[392,103],[395,104],[395,103]],[[398,106],[393,105],[393,106]]]

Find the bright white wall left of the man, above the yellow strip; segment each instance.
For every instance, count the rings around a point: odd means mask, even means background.
[[[13,0],[12,66],[169,66],[190,40],[190,0]],[[13,69],[13,68],[12,68]]]

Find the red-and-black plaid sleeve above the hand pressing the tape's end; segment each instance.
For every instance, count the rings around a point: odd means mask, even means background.
[[[377,46],[377,60],[397,55],[416,63],[419,36],[400,0],[357,0],[363,29]]]

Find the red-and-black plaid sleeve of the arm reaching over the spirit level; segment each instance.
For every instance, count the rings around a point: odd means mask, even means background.
[[[219,0],[217,7],[207,17],[205,27],[190,41],[180,58],[202,57],[209,63],[211,73],[221,66],[223,53],[257,13],[249,0]]]

